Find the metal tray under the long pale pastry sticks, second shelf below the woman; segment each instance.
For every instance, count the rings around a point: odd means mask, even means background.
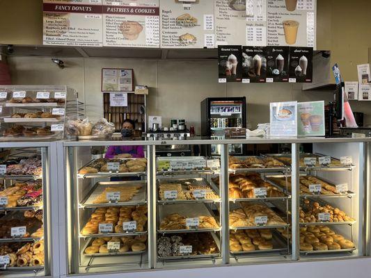
[[[131,185],[141,185],[139,192],[132,197],[130,201],[127,202],[111,202],[104,204],[94,204],[96,197],[100,195],[107,187],[120,187],[125,188],[125,186]],[[147,201],[147,181],[100,181],[95,183],[95,186],[87,194],[87,197],[81,202],[80,207],[84,208],[97,208],[101,206],[134,206],[146,204]]]

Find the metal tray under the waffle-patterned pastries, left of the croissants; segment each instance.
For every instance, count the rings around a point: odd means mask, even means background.
[[[219,195],[215,188],[210,185],[205,179],[203,178],[194,178],[194,179],[157,179],[157,196],[159,191],[159,186],[161,186],[162,183],[181,183],[182,184],[182,190],[184,193],[191,192],[191,190],[187,189],[187,185],[184,184],[184,182],[194,180],[192,185],[194,186],[209,186],[211,190],[208,190],[209,192],[212,191],[214,194]],[[215,203],[215,202],[221,202],[221,198],[217,199],[164,199],[160,200],[158,199],[158,204],[188,204],[188,203]]]

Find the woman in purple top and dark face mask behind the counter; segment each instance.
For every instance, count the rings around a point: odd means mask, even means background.
[[[134,121],[123,122],[123,136],[130,137],[133,134]],[[141,158],[144,157],[143,146],[109,146],[105,158]]]

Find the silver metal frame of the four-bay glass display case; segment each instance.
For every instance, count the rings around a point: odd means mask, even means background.
[[[370,220],[370,213],[367,211],[370,208],[370,191],[366,188],[366,183],[370,182],[370,169],[368,169],[367,165],[370,165],[370,145],[371,138],[254,138],[254,139],[236,139],[236,140],[187,140],[188,145],[207,145],[207,144],[218,144],[221,145],[221,182],[220,182],[220,193],[221,193],[221,209],[220,213],[223,215],[221,218],[221,263],[217,264],[217,266],[228,265],[230,264],[230,251],[229,251],[229,220],[228,220],[228,213],[230,208],[230,200],[228,199],[228,145],[229,144],[280,144],[280,143],[287,143],[291,144],[292,147],[292,167],[291,167],[291,176],[292,176],[292,193],[291,193],[291,227],[292,227],[292,244],[290,245],[291,255],[285,259],[283,262],[288,261],[306,261],[306,258],[302,258],[300,256],[299,250],[299,176],[301,174],[301,169],[299,168],[299,145],[301,143],[346,143],[346,142],[354,142],[358,144],[358,149],[360,152],[359,156],[359,163],[358,169],[359,172],[359,181],[358,181],[358,192],[357,195],[360,196],[359,204],[358,204],[358,211],[359,217]],[[58,154],[63,154],[65,152],[65,158],[61,158],[63,165],[67,165],[65,167],[65,176],[67,179],[70,179],[66,184],[68,188],[71,188],[74,184],[74,179],[77,177],[77,165],[74,165],[74,156],[73,150],[76,147],[91,147],[91,146],[109,146],[109,145],[145,145],[147,148],[147,157],[148,157],[148,167],[147,167],[147,181],[148,181],[148,268],[159,268],[157,265],[157,250],[156,250],[156,240],[157,240],[157,229],[156,229],[156,215],[157,215],[157,191],[156,188],[156,181],[157,181],[157,168],[156,168],[156,159],[155,159],[155,149],[157,145],[182,145],[184,144],[184,140],[180,141],[145,141],[145,140],[130,140],[130,141],[79,141],[79,142],[72,142],[66,141],[62,142],[61,146],[58,147]],[[72,159],[73,158],[73,159]],[[63,160],[66,161],[63,161]],[[73,172],[74,171],[74,172]],[[67,198],[65,192],[63,192],[64,198]],[[366,202],[367,201],[367,202]],[[352,215],[351,215],[352,216]],[[356,246],[357,253],[352,256],[365,256],[370,253],[370,221],[365,224],[364,221],[357,220],[356,224],[358,224],[358,245]],[[65,230],[68,233],[67,230]],[[62,233],[63,234],[63,233]],[[368,236],[368,239],[365,239],[365,236]],[[63,239],[61,239],[63,241]],[[68,241],[68,245],[74,245]],[[63,248],[61,248],[63,249]],[[77,250],[80,251],[80,250]],[[61,250],[61,273],[68,269],[68,264],[65,261],[65,252],[66,250]],[[79,252],[77,253],[79,254]],[[338,256],[326,256],[331,260],[339,259]],[[313,257],[310,260],[319,261],[323,259],[323,256],[319,258]],[[343,259],[343,257],[342,257]],[[184,261],[184,260],[183,260]],[[253,263],[274,263],[276,259],[269,257],[267,255],[267,259],[264,261],[247,261],[240,263],[239,265],[250,265]],[[183,262],[184,263],[184,262]],[[195,267],[205,266],[202,263],[195,263]],[[182,266],[176,266],[178,268],[182,268]],[[192,263],[184,264],[183,268],[192,268]],[[65,270],[63,270],[65,268]],[[168,268],[166,268],[168,269]],[[124,272],[130,272],[124,271]],[[91,273],[93,275],[93,273]],[[69,275],[68,272],[65,272],[64,275]],[[74,275],[83,275],[82,273],[74,273]],[[84,274],[86,275],[86,274]],[[95,275],[98,275],[95,273]],[[99,272],[99,275],[104,275],[104,272]]]

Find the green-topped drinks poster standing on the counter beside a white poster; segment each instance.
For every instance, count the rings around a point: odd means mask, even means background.
[[[298,136],[324,136],[324,101],[298,103]]]

